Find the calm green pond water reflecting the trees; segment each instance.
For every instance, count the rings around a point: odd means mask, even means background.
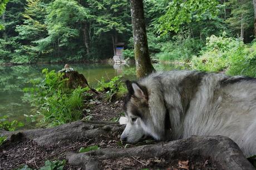
[[[10,120],[22,121],[29,127],[24,114],[31,115],[31,106],[22,101],[24,87],[29,87],[29,80],[43,78],[42,69],[61,70],[65,64],[17,65],[0,66],[0,117],[9,116]],[[88,83],[93,86],[102,77],[109,80],[116,75],[124,79],[136,79],[134,65],[110,64],[71,64],[79,73],[85,75]],[[173,65],[154,65],[156,70],[171,70]]]

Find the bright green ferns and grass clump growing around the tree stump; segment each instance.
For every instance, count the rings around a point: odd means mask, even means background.
[[[24,100],[36,106],[37,114],[43,116],[41,123],[56,126],[81,119],[83,93],[88,88],[68,89],[62,73],[48,72],[48,69],[42,73],[45,74],[43,81],[32,80],[33,87],[24,89]]]

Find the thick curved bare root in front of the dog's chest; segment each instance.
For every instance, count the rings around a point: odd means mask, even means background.
[[[70,153],[68,162],[81,166],[83,169],[99,169],[101,161],[105,159],[117,159],[122,157],[168,157],[175,159],[189,156],[192,159],[197,156],[208,157],[216,162],[217,169],[254,169],[252,164],[245,159],[238,145],[223,136],[194,136],[168,143],[157,143],[133,148],[106,148],[87,153]]]

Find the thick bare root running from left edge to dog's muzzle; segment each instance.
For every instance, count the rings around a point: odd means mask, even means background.
[[[16,142],[22,138],[33,140],[41,146],[55,146],[60,142],[72,142],[84,139],[101,139],[111,131],[122,132],[124,126],[115,122],[76,121],[52,128],[37,128],[8,132],[0,130],[0,136],[8,136],[7,141]]]

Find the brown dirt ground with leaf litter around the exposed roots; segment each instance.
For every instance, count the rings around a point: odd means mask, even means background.
[[[84,110],[86,119],[116,121],[123,110],[123,100],[113,102],[105,101],[102,94],[93,96],[93,100],[85,101],[90,105],[90,110]],[[110,136],[101,136],[101,140],[83,139],[77,142],[58,143],[57,146],[42,147],[32,140],[24,138],[21,141],[5,144],[0,147],[0,169],[16,169],[28,165],[29,168],[39,169],[46,160],[62,160],[70,152],[78,152],[81,147],[99,146],[100,148],[124,148],[134,145],[121,143],[121,132],[111,133]],[[155,141],[137,143],[145,145]],[[144,159],[140,157],[125,157],[117,159],[106,159],[101,162],[101,169],[217,169],[214,162],[208,158],[191,159],[185,156],[180,159],[170,159],[168,156],[161,158]],[[81,169],[66,163],[63,169]]]

